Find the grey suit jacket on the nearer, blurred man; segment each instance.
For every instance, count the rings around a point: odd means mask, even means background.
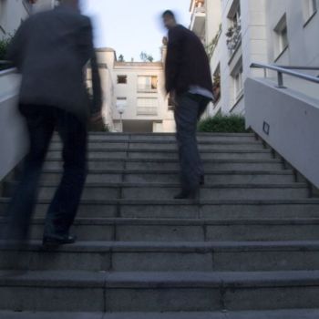
[[[20,103],[63,108],[87,120],[102,104],[98,63],[89,18],[67,5],[32,15],[17,30],[8,51],[22,74]],[[93,101],[85,81],[90,60]]]

